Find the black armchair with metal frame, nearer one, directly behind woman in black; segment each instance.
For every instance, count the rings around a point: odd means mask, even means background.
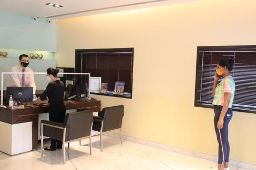
[[[85,139],[90,137],[90,155],[92,155],[91,131],[93,123],[93,112],[91,110],[67,113],[64,123],[41,120],[41,157],[44,144],[44,136],[62,140],[63,163],[66,163],[65,143]]]

